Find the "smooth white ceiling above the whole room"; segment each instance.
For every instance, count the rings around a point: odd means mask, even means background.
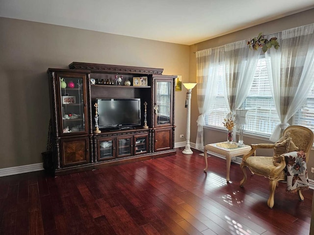
[[[192,45],[314,8],[314,0],[0,0],[0,16]]]

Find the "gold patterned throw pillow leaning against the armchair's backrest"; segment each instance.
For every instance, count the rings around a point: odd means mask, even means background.
[[[280,155],[288,152],[298,151],[299,148],[295,146],[292,138],[289,137],[290,133],[287,132],[282,138],[280,138],[274,147],[273,164],[278,166],[281,162]]]

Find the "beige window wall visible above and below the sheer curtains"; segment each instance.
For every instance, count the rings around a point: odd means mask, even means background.
[[[285,29],[314,23],[314,9],[307,10],[298,14],[294,14],[288,17],[284,17],[278,20],[274,20],[268,23],[260,24],[254,27],[250,27],[244,30],[240,30],[225,36],[221,36],[218,38],[214,38],[205,42],[201,42],[195,45],[190,46],[190,82],[196,82],[196,59],[195,54],[193,52],[204,50],[207,48],[219,47],[228,43],[236,42],[239,40],[246,40],[252,37],[257,36],[260,32],[264,32],[264,34],[271,34],[275,32],[280,32]],[[197,97],[196,91],[193,90],[192,94],[192,112],[191,112],[191,142],[196,142],[196,134],[197,134],[197,124],[196,120],[199,115],[197,108]],[[209,129],[204,129],[204,144],[225,141],[226,140],[226,132],[221,131],[213,131]],[[243,138],[245,143],[261,143],[265,141],[253,139],[253,138]],[[265,156],[271,156],[272,153],[269,151],[261,152],[261,154],[265,154]],[[314,151],[311,152],[311,159],[308,163],[308,169],[314,167]],[[311,172],[311,171],[309,171]],[[314,175],[312,173],[309,174],[311,179],[314,179]]]

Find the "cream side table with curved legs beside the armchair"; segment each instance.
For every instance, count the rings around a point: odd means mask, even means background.
[[[220,155],[223,155],[226,157],[227,162],[227,183],[230,181],[230,164],[232,157],[240,156],[243,154],[246,154],[251,150],[251,146],[245,145],[244,147],[235,147],[236,143],[228,144],[228,142],[219,142],[219,143],[210,143],[204,146],[204,157],[205,157],[205,163],[206,167],[204,169],[204,172],[208,169],[208,163],[207,163],[207,151],[212,153],[217,153]],[[229,148],[233,147],[233,148]]]

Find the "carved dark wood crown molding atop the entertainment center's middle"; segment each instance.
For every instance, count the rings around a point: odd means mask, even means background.
[[[112,72],[112,73],[137,73],[137,74],[162,74],[163,69],[145,68],[123,65],[105,65],[105,64],[92,64],[72,62],[69,65],[70,69],[76,70],[90,70],[91,72]]]

